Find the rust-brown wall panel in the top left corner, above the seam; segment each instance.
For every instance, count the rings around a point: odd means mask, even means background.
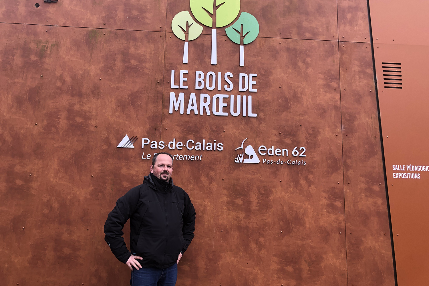
[[[4,23],[49,26],[165,31],[166,0],[159,1],[3,1],[0,18]],[[36,3],[40,6],[35,7]]]

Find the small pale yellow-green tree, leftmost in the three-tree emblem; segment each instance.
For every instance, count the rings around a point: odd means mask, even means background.
[[[188,41],[199,37],[202,33],[202,26],[196,23],[190,16],[189,11],[178,12],[171,22],[173,33],[181,40],[185,41],[183,48],[183,63],[187,63]]]

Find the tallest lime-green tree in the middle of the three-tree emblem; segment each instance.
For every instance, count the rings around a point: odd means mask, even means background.
[[[239,15],[240,0],[190,0],[194,17],[211,29],[211,64],[217,64],[216,28],[230,24]]]

